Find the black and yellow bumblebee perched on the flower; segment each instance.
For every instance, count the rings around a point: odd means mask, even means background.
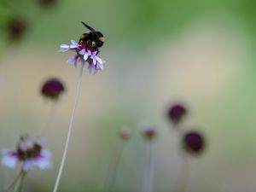
[[[105,38],[102,34],[102,32],[96,31],[94,28],[91,26],[88,26],[82,21],[82,24],[90,30],[90,32],[85,32],[81,35],[79,39],[80,44],[86,43],[90,47],[94,47],[96,49],[101,48],[102,45],[105,42]]]

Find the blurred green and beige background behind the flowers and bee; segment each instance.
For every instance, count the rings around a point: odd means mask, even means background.
[[[61,161],[79,69],[66,64],[60,44],[79,40],[81,21],[101,31],[105,68],[84,70],[79,108],[59,191],[100,192],[123,125],[132,137],[123,150],[112,192],[141,192],[147,143],[141,125],[154,125],[154,188],[177,191],[183,170],[180,137],[166,108],[183,102],[184,130],[201,131],[206,150],[189,158],[189,192],[251,192],[256,183],[256,2],[253,0],[1,0],[0,148],[20,135],[47,136],[54,167],[31,172],[24,191],[51,191]],[[22,32],[9,20],[22,20]],[[18,38],[14,38],[18,36]],[[61,79],[55,103],[40,94],[44,81]],[[0,167],[0,191],[15,172]]]

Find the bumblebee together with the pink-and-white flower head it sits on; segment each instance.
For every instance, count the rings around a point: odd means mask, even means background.
[[[79,42],[71,40],[71,44],[61,44],[61,52],[67,50],[73,50],[76,55],[71,56],[67,63],[73,64],[77,67],[77,63],[80,63],[84,67],[85,62],[88,62],[88,69],[90,73],[97,73],[103,69],[103,63],[101,57],[98,56],[99,49],[105,42],[105,38],[102,32],[96,31],[91,26],[88,26],[82,21],[82,24],[89,29],[89,32],[84,32],[79,38]]]

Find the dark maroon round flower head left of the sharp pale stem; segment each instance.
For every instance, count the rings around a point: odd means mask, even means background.
[[[58,79],[49,79],[47,80],[41,90],[41,93],[43,96],[52,99],[57,100],[61,93],[63,93],[65,90],[64,85],[61,83]]]

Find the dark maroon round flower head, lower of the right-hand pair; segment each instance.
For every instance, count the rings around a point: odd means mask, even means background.
[[[205,148],[205,139],[197,131],[189,131],[183,135],[183,147],[190,154],[201,154]]]

